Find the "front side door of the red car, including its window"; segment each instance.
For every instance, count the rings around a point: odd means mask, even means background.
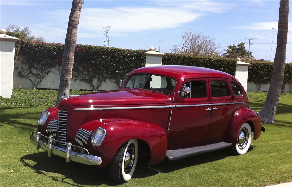
[[[190,147],[206,142],[210,121],[208,79],[189,79],[183,82],[190,87],[190,93],[184,98],[178,95],[176,107],[172,112],[172,148]]]

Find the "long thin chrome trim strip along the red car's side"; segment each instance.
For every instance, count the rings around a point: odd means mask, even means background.
[[[196,107],[196,106],[216,106],[216,105],[234,105],[243,104],[248,106],[244,102],[230,102],[230,103],[210,103],[210,104],[197,104],[197,105],[173,105],[173,107]],[[74,110],[116,110],[116,109],[145,109],[145,108],[171,108],[172,105],[165,106],[126,106],[126,107],[86,107],[86,108],[75,108]]]

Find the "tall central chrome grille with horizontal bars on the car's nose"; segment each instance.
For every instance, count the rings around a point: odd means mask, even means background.
[[[64,142],[60,143],[60,147],[66,148],[66,127],[67,127],[67,111],[58,111],[58,138],[59,141]]]

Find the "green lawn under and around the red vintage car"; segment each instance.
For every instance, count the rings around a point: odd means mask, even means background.
[[[251,95],[251,108],[259,111],[265,95]],[[66,163],[35,150],[29,134],[48,107],[1,106],[0,186],[118,185],[108,169]],[[281,96],[275,123],[263,126],[266,132],[252,141],[245,155],[232,156],[225,149],[178,162],[138,165],[133,179],[120,186],[265,186],[292,181],[292,94]]]

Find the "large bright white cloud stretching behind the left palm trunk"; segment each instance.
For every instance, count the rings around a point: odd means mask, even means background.
[[[157,6],[157,4],[161,4]],[[227,3],[213,1],[159,1],[155,7],[114,7],[84,8],[81,13],[78,30],[84,37],[103,35],[103,27],[112,25],[115,35],[143,30],[157,30],[180,27],[190,23],[206,13],[222,13],[228,9]],[[68,22],[69,11],[47,12],[59,22]]]

